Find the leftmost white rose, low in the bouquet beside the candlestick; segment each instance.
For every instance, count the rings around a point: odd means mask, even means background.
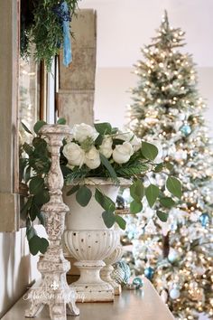
[[[63,155],[68,159],[68,166],[79,165],[81,167],[84,164],[85,152],[74,142],[63,147]]]

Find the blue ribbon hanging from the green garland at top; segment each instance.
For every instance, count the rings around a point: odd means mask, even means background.
[[[60,18],[60,23],[63,28],[63,64],[68,67],[69,63],[72,61],[72,54],[69,28],[69,22],[71,21],[71,19],[67,1],[63,1],[59,5],[56,5],[53,8],[53,11]]]

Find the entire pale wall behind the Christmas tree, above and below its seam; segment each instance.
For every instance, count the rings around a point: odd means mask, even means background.
[[[96,119],[119,127],[125,123],[125,106],[131,101],[126,91],[136,85],[133,65],[142,59],[140,48],[151,42],[167,10],[171,26],[186,32],[182,50],[198,64],[200,93],[213,127],[212,0],[84,0],[79,7],[97,10]]]

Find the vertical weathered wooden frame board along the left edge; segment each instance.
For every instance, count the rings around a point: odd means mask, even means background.
[[[19,228],[19,1],[0,1],[0,231]]]

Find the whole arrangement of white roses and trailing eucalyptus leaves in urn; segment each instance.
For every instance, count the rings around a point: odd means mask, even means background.
[[[63,118],[58,120],[58,124],[65,122]],[[20,177],[21,182],[27,186],[22,214],[26,217],[26,236],[33,255],[39,251],[44,253],[48,247],[48,240],[39,237],[33,227],[36,218],[45,226],[42,205],[50,200],[46,180],[51,167],[51,156],[45,138],[39,133],[45,124],[45,121],[38,121],[33,127],[34,133],[23,124],[25,131],[32,135],[32,144],[25,142],[20,146]],[[166,201],[175,205],[181,200],[181,183],[170,175],[170,164],[154,161],[157,155],[156,146],[138,139],[131,132],[121,132],[109,123],[97,123],[94,127],[75,125],[60,149],[60,168],[64,183],[74,184],[67,195],[76,193],[77,202],[85,207],[92,193],[84,184],[84,179],[110,178],[114,184],[119,184],[119,178],[130,179],[130,212],[141,212],[144,197],[150,207],[161,200],[163,195],[157,185],[149,182],[149,173],[164,170],[168,174],[164,187],[173,196],[173,199],[168,196]],[[106,227],[111,228],[117,223],[125,230],[125,220],[115,214],[116,203],[103,194],[98,186],[95,199],[104,210],[102,217]],[[166,206],[167,203],[165,208]],[[157,211],[156,214],[161,221],[167,221],[167,213]]]

